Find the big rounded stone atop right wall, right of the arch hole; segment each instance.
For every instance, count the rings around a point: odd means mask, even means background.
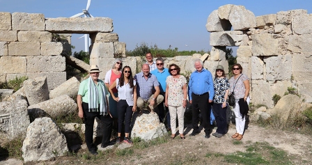
[[[234,31],[256,27],[256,16],[244,6],[233,6],[228,20]]]

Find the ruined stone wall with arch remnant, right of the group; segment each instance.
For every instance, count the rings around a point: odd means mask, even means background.
[[[251,102],[272,108],[272,96],[288,87],[312,101],[311,20],[306,10],[255,17],[244,6],[225,5],[209,15],[206,28],[212,49],[238,47],[237,63],[251,78]]]

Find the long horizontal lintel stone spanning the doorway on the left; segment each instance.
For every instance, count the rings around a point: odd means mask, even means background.
[[[108,17],[47,18],[45,30],[54,33],[112,32],[113,19]]]

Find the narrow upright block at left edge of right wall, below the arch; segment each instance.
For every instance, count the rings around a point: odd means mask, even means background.
[[[258,56],[251,56],[251,79],[264,79],[264,62]]]

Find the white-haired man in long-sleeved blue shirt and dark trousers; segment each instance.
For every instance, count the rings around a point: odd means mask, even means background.
[[[205,138],[210,138],[210,110],[214,96],[214,86],[212,74],[203,68],[203,61],[194,61],[196,70],[189,77],[189,103],[192,104],[192,125],[193,132],[190,136],[199,134],[198,113],[201,110],[203,117],[203,127],[205,128]]]

